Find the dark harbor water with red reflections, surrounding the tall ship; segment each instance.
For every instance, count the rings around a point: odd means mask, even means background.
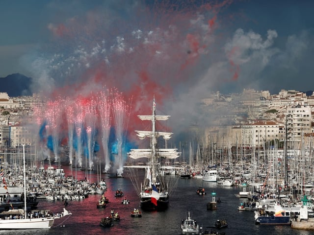
[[[66,175],[72,172],[71,166],[64,166]],[[143,171],[144,170],[139,170]],[[89,195],[89,197],[79,201],[69,201],[66,209],[72,215],[59,224],[54,221],[53,227],[47,230],[11,230],[0,231],[0,235],[180,235],[181,220],[185,219],[187,211],[191,212],[192,218],[204,229],[213,227],[217,219],[226,219],[228,227],[218,232],[225,232],[226,235],[311,235],[313,232],[294,230],[290,226],[270,226],[256,225],[253,211],[238,211],[240,199],[235,196],[241,190],[238,187],[218,187],[215,183],[205,182],[202,179],[178,179],[177,187],[171,193],[169,208],[162,212],[142,211],[141,218],[131,217],[131,211],[139,208],[139,197],[130,179],[130,171],[124,172],[125,178],[108,178],[107,174],[102,174],[107,184],[105,196],[109,203],[105,208],[97,209],[96,204],[101,195]],[[78,179],[85,178],[84,171],[77,171]],[[165,177],[178,177],[167,175]],[[97,182],[97,172],[88,173],[91,182]],[[204,187],[207,194],[198,195],[196,190]],[[114,196],[115,190],[121,188],[124,196],[130,200],[130,204],[122,204],[123,198]],[[217,204],[217,210],[207,210],[207,203],[212,201],[211,192],[216,192],[216,200],[220,198],[221,203]],[[62,211],[64,201],[40,200],[38,209],[49,209],[52,212]],[[109,216],[111,209],[121,216],[120,221],[114,221],[114,226],[104,228],[99,225],[101,218]]]

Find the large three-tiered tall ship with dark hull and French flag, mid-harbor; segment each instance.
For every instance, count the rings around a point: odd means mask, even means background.
[[[132,159],[147,158],[148,163],[145,167],[144,181],[140,182],[140,186],[136,186],[135,190],[140,197],[140,206],[144,211],[164,211],[168,208],[169,194],[171,186],[165,182],[164,174],[160,171],[160,160],[176,159],[180,157],[180,152],[176,148],[159,148],[159,138],[165,141],[169,140],[173,133],[160,132],[156,128],[157,121],[168,120],[170,116],[156,115],[155,97],[153,100],[152,115],[137,116],[142,121],[148,120],[152,122],[152,130],[135,131],[140,140],[149,138],[149,148],[147,149],[131,149],[128,156]],[[165,144],[166,145],[166,144]]]

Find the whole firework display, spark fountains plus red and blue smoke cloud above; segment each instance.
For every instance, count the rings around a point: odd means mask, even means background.
[[[149,113],[146,101],[153,95],[160,103],[173,101],[173,94],[189,93],[187,89],[200,88],[194,93],[203,95],[203,89],[211,83],[203,80],[209,70],[204,65],[216,61],[212,54],[217,47],[211,46],[214,31],[221,24],[218,13],[230,3],[231,0],[126,3],[121,15],[105,9],[89,12],[84,19],[73,18],[62,26],[50,24],[55,36],[52,45],[42,47],[46,51],[38,53],[33,65],[34,71],[41,74],[34,78],[34,89],[55,97],[42,112],[36,111],[37,122],[46,126],[41,141],[50,147],[55,159],[63,143],[69,146],[70,164],[75,150],[76,165],[92,167],[94,155],[98,155],[106,171],[113,166],[112,161],[121,174],[129,119],[132,125],[138,121],[131,116],[131,100],[132,115],[136,115]],[[40,71],[42,68],[45,70]],[[232,68],[238,75],[237,65]],[[202,75],[197,77],[196,71]],[[216,74],[208,77],[220,78]],[[186,90],[178,92],[178,87]],[[186,108],[186,100],[180,98]],[[184,110],[185,116],[181,115],[182,107],[174,104],[168,108],[179,118],[188,119],[186,113],[195,114]],[[109,142],[111,130],[114,143]],[[102,153],[96,153],[94,148],[98,142]]]

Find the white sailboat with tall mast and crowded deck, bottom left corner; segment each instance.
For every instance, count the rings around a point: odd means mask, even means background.
[[[23,145],[23,160],[24,160],[24,210],[12,209],[1,212],[6,219],[0,220],[0,230],[9,229],[49,229],[54,222],[54,216],[48,211],[43,214],[37,213],[36,216],[30,216],[26,213],[26,170],[25,170],[25,145]],[[3,176],[4,177],[4,176]],[[4,181],[5,182],[5,181]],[[6,184],[4,184],[6,187]],[[63,209],[62,216],[70,215],[71,212]]]

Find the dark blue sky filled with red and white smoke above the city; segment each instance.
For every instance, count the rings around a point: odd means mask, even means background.
[[[75,97],[117,88],[178,123],[212,91],[314,90],[311,0],[0,0],[0,77]],[[189,118],[187,117],[189,114]]]

